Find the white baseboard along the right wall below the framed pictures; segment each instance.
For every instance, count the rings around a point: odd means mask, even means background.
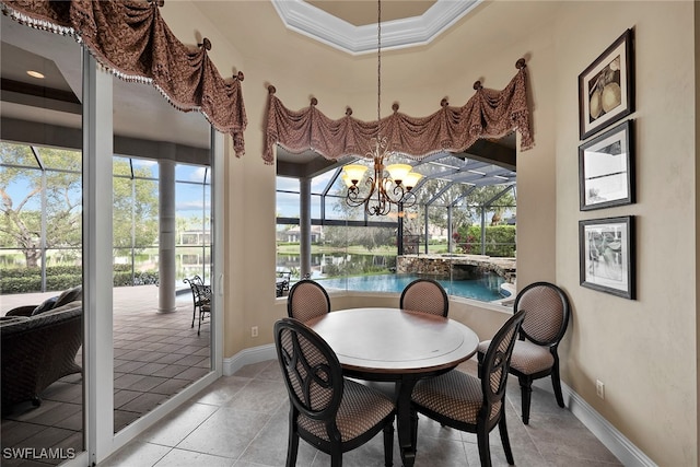
[[[536,381],[534,386],[551,393],[553,389],[549,378]],[[600,413],[579,396],[571,387],[561,383],[561,393],[567,402],[567,408],[594,434],[626,467],[657,467],[630,440],[610,424]]]

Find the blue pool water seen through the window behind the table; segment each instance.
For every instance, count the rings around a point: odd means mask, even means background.
[[[406,285],[419,277],[418,275],[377,275],[314,280],[327,289],[400,293]],[[488,273],[475,280],[438,279],[438,282],[445,288],[448,295],[491,302],[503,299],[500,288],[505,280],[495,273]]]

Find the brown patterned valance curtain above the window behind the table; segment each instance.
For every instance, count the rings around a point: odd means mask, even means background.
[[[462,107],[451,107],[445,100],[440,110],[415,118],[398,112],[380,121],[352,118],[352,110],[332,120],[316,108],[316,100],[302,110],[290,110],[269,86],[267,130],[262,159],[273,162],[272,149],[280,144],[292,153],[313,150],[326,159],[363,155],[373,147],[377,133],[387,138],[388,151],[421,159],[440,151],[462,152],[479,138],[501,138],[512,131],[521,133],[523,151],[534,145],[530,133],[530,108],[527,101],[525,60],[516,63],[517,74],[502,91],[485,89],[480,82],[476,94]]]

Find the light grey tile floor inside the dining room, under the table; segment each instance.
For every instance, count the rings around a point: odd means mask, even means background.
[[[459,367],[476,373],[470,360]],[[517,466],[608,467],[618,459],[553,395],[535,388],[530,422],[520,419],[520,387],[511,377],[506,420]],[[100,467],[283,466],[287,455],[289,401],[277,361],[243,367],[202,390],[138,441],[113,454]],[[498,435],[490,436],[494,466],[508,465]],[[300,467],[327,466],[329,456],[300,442]],[[382,435],[346,453],[348,467],[383,466]],[[395,442],[394,465],[400,465]],[[419,421],[416,466],[478,466],[476,435]]]

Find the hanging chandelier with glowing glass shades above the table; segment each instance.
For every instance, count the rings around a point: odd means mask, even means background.
[[[369,215],[386,215],[396,205],[399,215],[404,209],[416,205],[416,194],[411,189],[421,179],[422,175],[411,172],[408,164],[390,164],[384,162],[392,155],[387,151],[387,139],[381,133],[381,107],[382,107],[382,0],[377,1],[377,45],[376,45],[376,137],[372,138],[373,148],[368,151],[365,157],[374,161],[374,172],[364,179],[366,165],[349,164],[342,168],[342,180],[348,187],[346,202],[351,207],[364,206],[364,212]],[[363,189],[364,188],[364,189]]]

